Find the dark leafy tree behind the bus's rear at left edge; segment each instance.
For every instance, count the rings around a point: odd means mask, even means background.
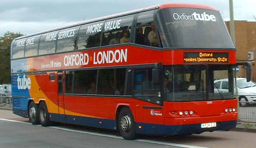
[[[20,36],[23,34],[8,31],[0,37],[0,84],[11,83],[10,48],[14,38]]]

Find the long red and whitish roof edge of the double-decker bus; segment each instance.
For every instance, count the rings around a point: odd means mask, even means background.
[[[21,36],[21,37],[15,38],[14,40],[35,36],[35,35],[38,35],[38,34],[48,33],[48,32],[52,32],[52,31],[57,31],[57,30],[65,29],[65,28],[80,26],[80,25],[83,25],[83,24],[98,22],[98,21],[106,20],[106,19],[110,19],[110,18],[120,17],[120,16],[123,16],[123,15],[129,15],[129,14],[139,13],[139,12],[143,12],[143,11],[154,10],[154,9],[164,9],[164,8],[199,8],[199,9],[210,9],[210,10],[218,11],[217,9],[212,8],[210,6],[199,5],[199,4],[183,4],[183,3],[158,4],[158,5],[148,6],[148,7],[140,8],[140,9],[136,9],[136,10],[131,10],[131,11],[126,11],[126,12],[122,12],[122,13],[112,14],[112,15],[108,15],[108,16],[105,16],[105,17],[94,18],[94,19],[83,21],[83,22],[63,26],[63,27],[49,29],[49,30],[46,30],[46,31],[41,31],[41,32],[38,32],[38,33],[33,33],[33,34],[26,35],[26,36]]]

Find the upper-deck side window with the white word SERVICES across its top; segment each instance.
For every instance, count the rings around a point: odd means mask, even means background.
[[[79,27],[63,29],[58,33],[57,52],[76,50]]]

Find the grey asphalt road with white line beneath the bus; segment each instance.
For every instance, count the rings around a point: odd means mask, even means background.
[[[0,118],[0,148],[255,148],[256,133],[215,131],[168,137],[139,135],[138,140],[129,141],[111,130],[61,124],[52,127],[31,125],[28,119],[13,115],[11,111],[0,110]]]

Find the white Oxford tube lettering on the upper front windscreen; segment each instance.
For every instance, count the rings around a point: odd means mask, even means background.
[[[191,15],[186,15],[186,13],[182,13],[182,15],[178,14],[178,13],[174,13],[173,14],[173,18],[175,20],[205,20],[205,21],[216,21],[216,17],[213,14],[206,14],[206,12],[204,12],[203,14],[200,13],[192,13]]]

